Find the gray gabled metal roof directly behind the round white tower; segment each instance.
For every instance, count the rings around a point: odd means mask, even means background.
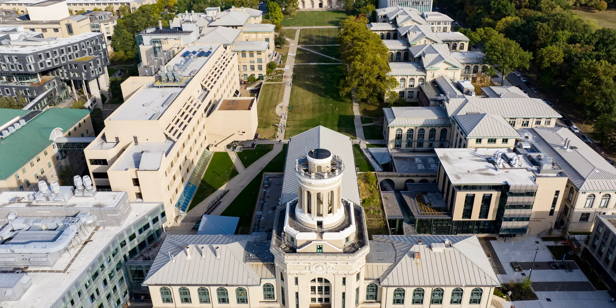
[[[315,148],[325,148],[342,158],[346,167],[342,174],[341,197],[360,205],[361,198],[357,186],[357,172],[354,168],[355,156],[353,155],[351,138],[323,126],[309,129],[291,137],[289,140],[280,203],[284,204],[298,197],[299,184],[298,177],[295,174],[295,163],[298,158],[305,156],[308,151]]]

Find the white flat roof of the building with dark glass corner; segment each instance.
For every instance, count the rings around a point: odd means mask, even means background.
[[[435,148],[434,150],[453,185],[504,183],[537,185],[534,180],[535,174],[526,168],[496,168],[488,161],[496,151],[512,153],[509,148]]]

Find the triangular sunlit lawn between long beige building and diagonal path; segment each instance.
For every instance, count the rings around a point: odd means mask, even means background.
[[[205,174],[203,174],[201,184],[199,188],[197,188],[197,192],[195,192],[195,197],[190,203],[188,211],[205,200],[205,198],[208,198],[209,195],[216,192],[218,188],[221,188],[222,185],[229,182],[230,179],[233,179],[233,177],[237,175],[238,172],[233,166],[233,161],[231,161],[229,153],[214,153],[212,160],[209,161],[208,169],[206,169]]]

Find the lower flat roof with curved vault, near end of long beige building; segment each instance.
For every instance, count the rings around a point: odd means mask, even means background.
[[[163,156],[167,156],[175,142],[134,144],[124,151],[120,161],[116,161],[113,171],[158,170]]]

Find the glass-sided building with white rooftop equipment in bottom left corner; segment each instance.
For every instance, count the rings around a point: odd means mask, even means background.
[[[97,192],[87,177],[75,185],[41,181],[38,190],[0,190],[2,307],[128,303],[126,263],[158,240],[164,206]]]

